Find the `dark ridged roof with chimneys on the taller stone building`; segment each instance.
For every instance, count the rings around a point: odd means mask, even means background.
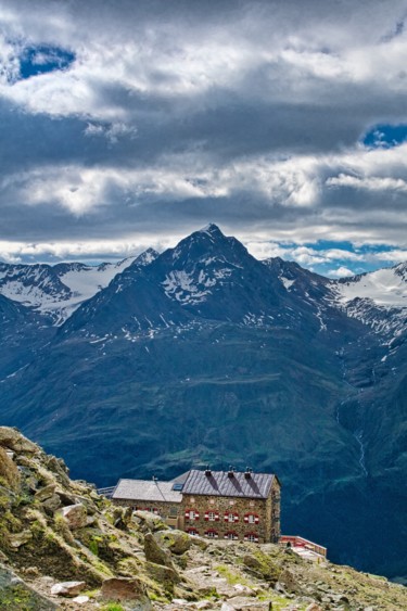
[[[206,474],[211,473],[211,474]],[[198,471],[192,469],[183,484],[182,494],[205,496],[231,496],[243,498],[267,498],[276,475],[271,473],[244,473],[233,471]]]

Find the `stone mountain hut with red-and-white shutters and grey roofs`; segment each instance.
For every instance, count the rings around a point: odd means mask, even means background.
[[[112,498],[157,513],[191,535],[277,543],[280,487],[270,473],[192,469],[171,482],[120,480]]]

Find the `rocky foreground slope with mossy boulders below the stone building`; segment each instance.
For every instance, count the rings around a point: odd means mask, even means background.
[[[405,587],[271,544],[206,542],[113,507],[64,462],[0,428],[0,608],[9,611],[357,610]]]

